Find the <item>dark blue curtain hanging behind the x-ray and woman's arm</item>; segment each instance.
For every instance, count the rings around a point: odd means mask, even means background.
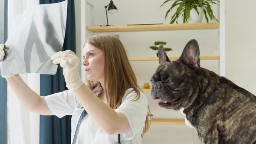
[[[40,4],[59,3],[64,0],[40,0]],[[68,0],[66,35],[62,51],[75,52],[75,4]],[[46,96],[67,90],[62,68],[58,66],[56,75],[40,75],[40,95]],[[40,144],[70,144],[71,116],[40,115]]]

